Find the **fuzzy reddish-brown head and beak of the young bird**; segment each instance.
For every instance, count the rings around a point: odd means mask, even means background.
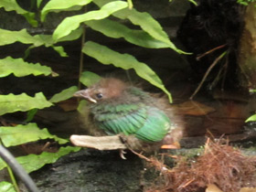
[[[74,97],[86,99],[94,103],[109,101],[120,98],[126,87],[127,84],[122,80],[103,78],[88,89],[75,92]]]

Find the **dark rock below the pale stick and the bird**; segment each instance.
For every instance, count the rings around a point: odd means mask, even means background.
[[[142,161],[118,151],[81,150],[31,174],[40,191],[141,191]]]

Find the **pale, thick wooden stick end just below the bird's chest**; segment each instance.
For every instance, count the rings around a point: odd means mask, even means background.
[[[113,136],[89,136],[72,134],[70,136],[72,144],[81,147],[89,147],[98,150],[117,150],[127,149],[120,140],[119,135]]]

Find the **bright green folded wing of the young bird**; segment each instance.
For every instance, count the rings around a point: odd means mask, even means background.
[[[144,104],[105,104],[92,110],[98,126],[109,134],[134,134],[144,142],[161,141],[170,128],[165,112]]]

